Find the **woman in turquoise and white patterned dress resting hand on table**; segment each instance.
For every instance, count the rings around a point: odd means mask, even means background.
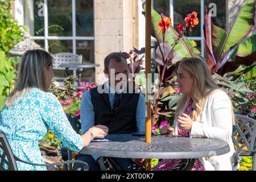
[[[59,100],[47,90],[53,77],[53,57],[40,49],[24,53],[18,80],[6,98],[0,115],[0,130],[6,134],[14,155],[30,163],[43,164],[38,143],[51,129],[63,145],[79,152],[94,138],[103,138],[108,127],[97,125],[83,135],[72,129]],[[0,151],[1,152],[1,151]],[[19,170],[46,170],[17,162]]]

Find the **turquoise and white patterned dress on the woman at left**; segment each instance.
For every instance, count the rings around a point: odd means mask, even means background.
[[[24,99],[13,107],[4,107],[0,114],[0,130],[6,134],[11,150],[19,159],[43,164],[38,143],[51,129],[63,145],[73,151],[82,149],[81,135],[70,125],[57,97],[32,88]],[[17,162],[19,170],[46,170]]]

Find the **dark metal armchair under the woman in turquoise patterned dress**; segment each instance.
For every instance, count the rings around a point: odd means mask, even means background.
[[[2,131],[0,131],[0,171],[18,171],[18,167],[16,165],[17,161],[25,164],[30,164],[32,166],[46,166],[46,167],[59,166],[61,164],[79,163],[79,164],[82,164],[83,166],[83,168],[79,169],[80,171],[88,171],[88,168],[89,168],[87,163],[82,162],[80,160],[68,160],[65,162],[52,163],[52,164],[35,164],[35,163],[29,163],[24,160],[21,160],[13,154],[13,151],[11,151],[10,144],[5,134]]]

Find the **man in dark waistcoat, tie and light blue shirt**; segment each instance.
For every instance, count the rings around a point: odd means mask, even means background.
[[[131,134],[145,131],[145,101],[141,93],[127,86],[126,58],[118,52],[104,59],[107,82],[86,91],[81,100],[81,134],[93,125],[105,125],[109,134]],[[121,77],[121,78],[120,78]],[[112,158],[124,170],[138,170],[144,159]],[[100,156],[77,154],[76,160],[89,165],[89,171],[100,170]],[[79,168],[76,164],[74,169]]]

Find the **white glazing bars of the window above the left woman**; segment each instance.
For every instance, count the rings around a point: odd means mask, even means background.
[[[44,40],[44,49],[46,51],[49,51],[48,40],[72,40],[73,53],[76,53],[77,40],[93,40],[94,41],[94,36],[76,36],[76,0],[72,0],[72,36],[49,36],[48,0],[44,0],[44,36],[32,36],[31,38],[34,40]]]

